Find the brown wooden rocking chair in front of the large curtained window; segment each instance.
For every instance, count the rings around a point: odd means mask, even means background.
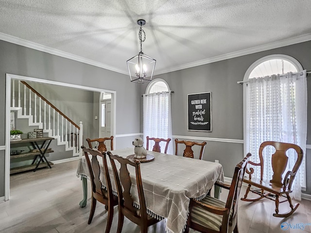
[[[267,146],[273,146],[276,149],[276,152],[271,156],[271,163],[273,169],[273,177],[270,181],[263,180],[263,172],[264,172],[264,158],[262,151]],[[286,151],[289,149],[294,149],[295,153],[297,154],[296,161],[292,170],[288,170],[282,178],[284,172],[286,171],[288,156],[286,155]],[[303,151],[302,149],[292,143],[283,143],[283,142],[274,142],[274,141],[266,141],[261,143],[259,147],[259,163],[254,163],[252,161],[249,162],[252,166],[259,166],[260,167],[260,178],[252,177],[254,173],[254,168],[250,167],[250,170],[246,170],[246,173],[249,174],[249,179],[244,179],[244,182],[248,184],[244,198],[242,200],[245,201],[256,201],[261,200],[263,198],[267,198],[276,202],[276,213],[273,214],[275,217],[288,217],[294,213],[294,211],[298,208],[299,203],[293,205],[290,193],[293,192],[292,184],[294,182],[295,175],[299,166],[301,165],[303,158]],[[299,181],[298,181],[299,182]],[[251,186],[255,188],[251,189]],[[247,195],[251,191],[259,195],[258,198],[247,198]],[[275,195],[271,196],[270,194]],[[279,198],[283,197],[285,200],[280,201]],[[288,201],[291,207],[291,210],[284,214],[279,214],[278,212],[278,205],[279,203]]]

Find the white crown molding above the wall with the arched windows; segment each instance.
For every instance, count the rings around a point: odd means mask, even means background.
[[[250,49],[226,53],[224,55],[220,55],[220,56],[216,56],[216,57],[212,57],[212,58],[207,58],[207,59],[200,60],[197,62],[191,62],[191,63],[181,65],[181,66],[157,70],[154,73],[154,75],[169,73],[169,72],[173,72],[176,70],[187,69],[187,68],[197,67],[197,66],[201,66],[201,65],[206,65],[208,63],[219,62],[219,61],[223,61],[223,60],[230,59],[230,58],[235,58],[235,57],[240,57],[240,56],[252,54],[255,52],[261,52],[261,51],[272,50],[272,49],[276,49],[276,48],[280,48],[280,47],[284,47],[284,46],[288,46],[288,45],[294,45],[294,44],[306,42],[309,40],[311,40],[311,33],[295,36],[295,37],[292,37],[289,39],[279,40],[279,41],[272,42],[272,43],[265,44],[265,45],[256,46],[256,47],[253,47]]]

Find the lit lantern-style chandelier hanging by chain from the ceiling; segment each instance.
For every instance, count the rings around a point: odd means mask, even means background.
[[[130,74],[131,82],[133,83],[147,83],[152,80],[155,70],[155,59],[149,57],[142,52],[141,44],[146,39],[146,33],[142,30],[142,26],[146,24],[144,19],[137,20],[140,25],[138,38],[140,42],[140,52],[126,61],[128,72]]]

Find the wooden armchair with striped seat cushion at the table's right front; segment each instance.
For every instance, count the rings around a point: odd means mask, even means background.
[[[237,164],[234,169],[231,185],[216,182],[215,184],[228,189],[226,202],[207,196],[202,200],[190,200],[189,217],[185,233],[189,228],[201,233],[238,233],[238,202],[250,153]]]

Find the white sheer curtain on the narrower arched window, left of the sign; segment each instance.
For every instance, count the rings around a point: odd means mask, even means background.
[[[146,136],[173,139],[171,92],[158,92],[143,96],[143,133],[144,141],[146,141]],[[160,143],[163,151],[165,144],[165,142]],[[149,150],[152,150],[153,146],[154,142],[149,141]],[[167,153],[173,154],[172,141]]]

